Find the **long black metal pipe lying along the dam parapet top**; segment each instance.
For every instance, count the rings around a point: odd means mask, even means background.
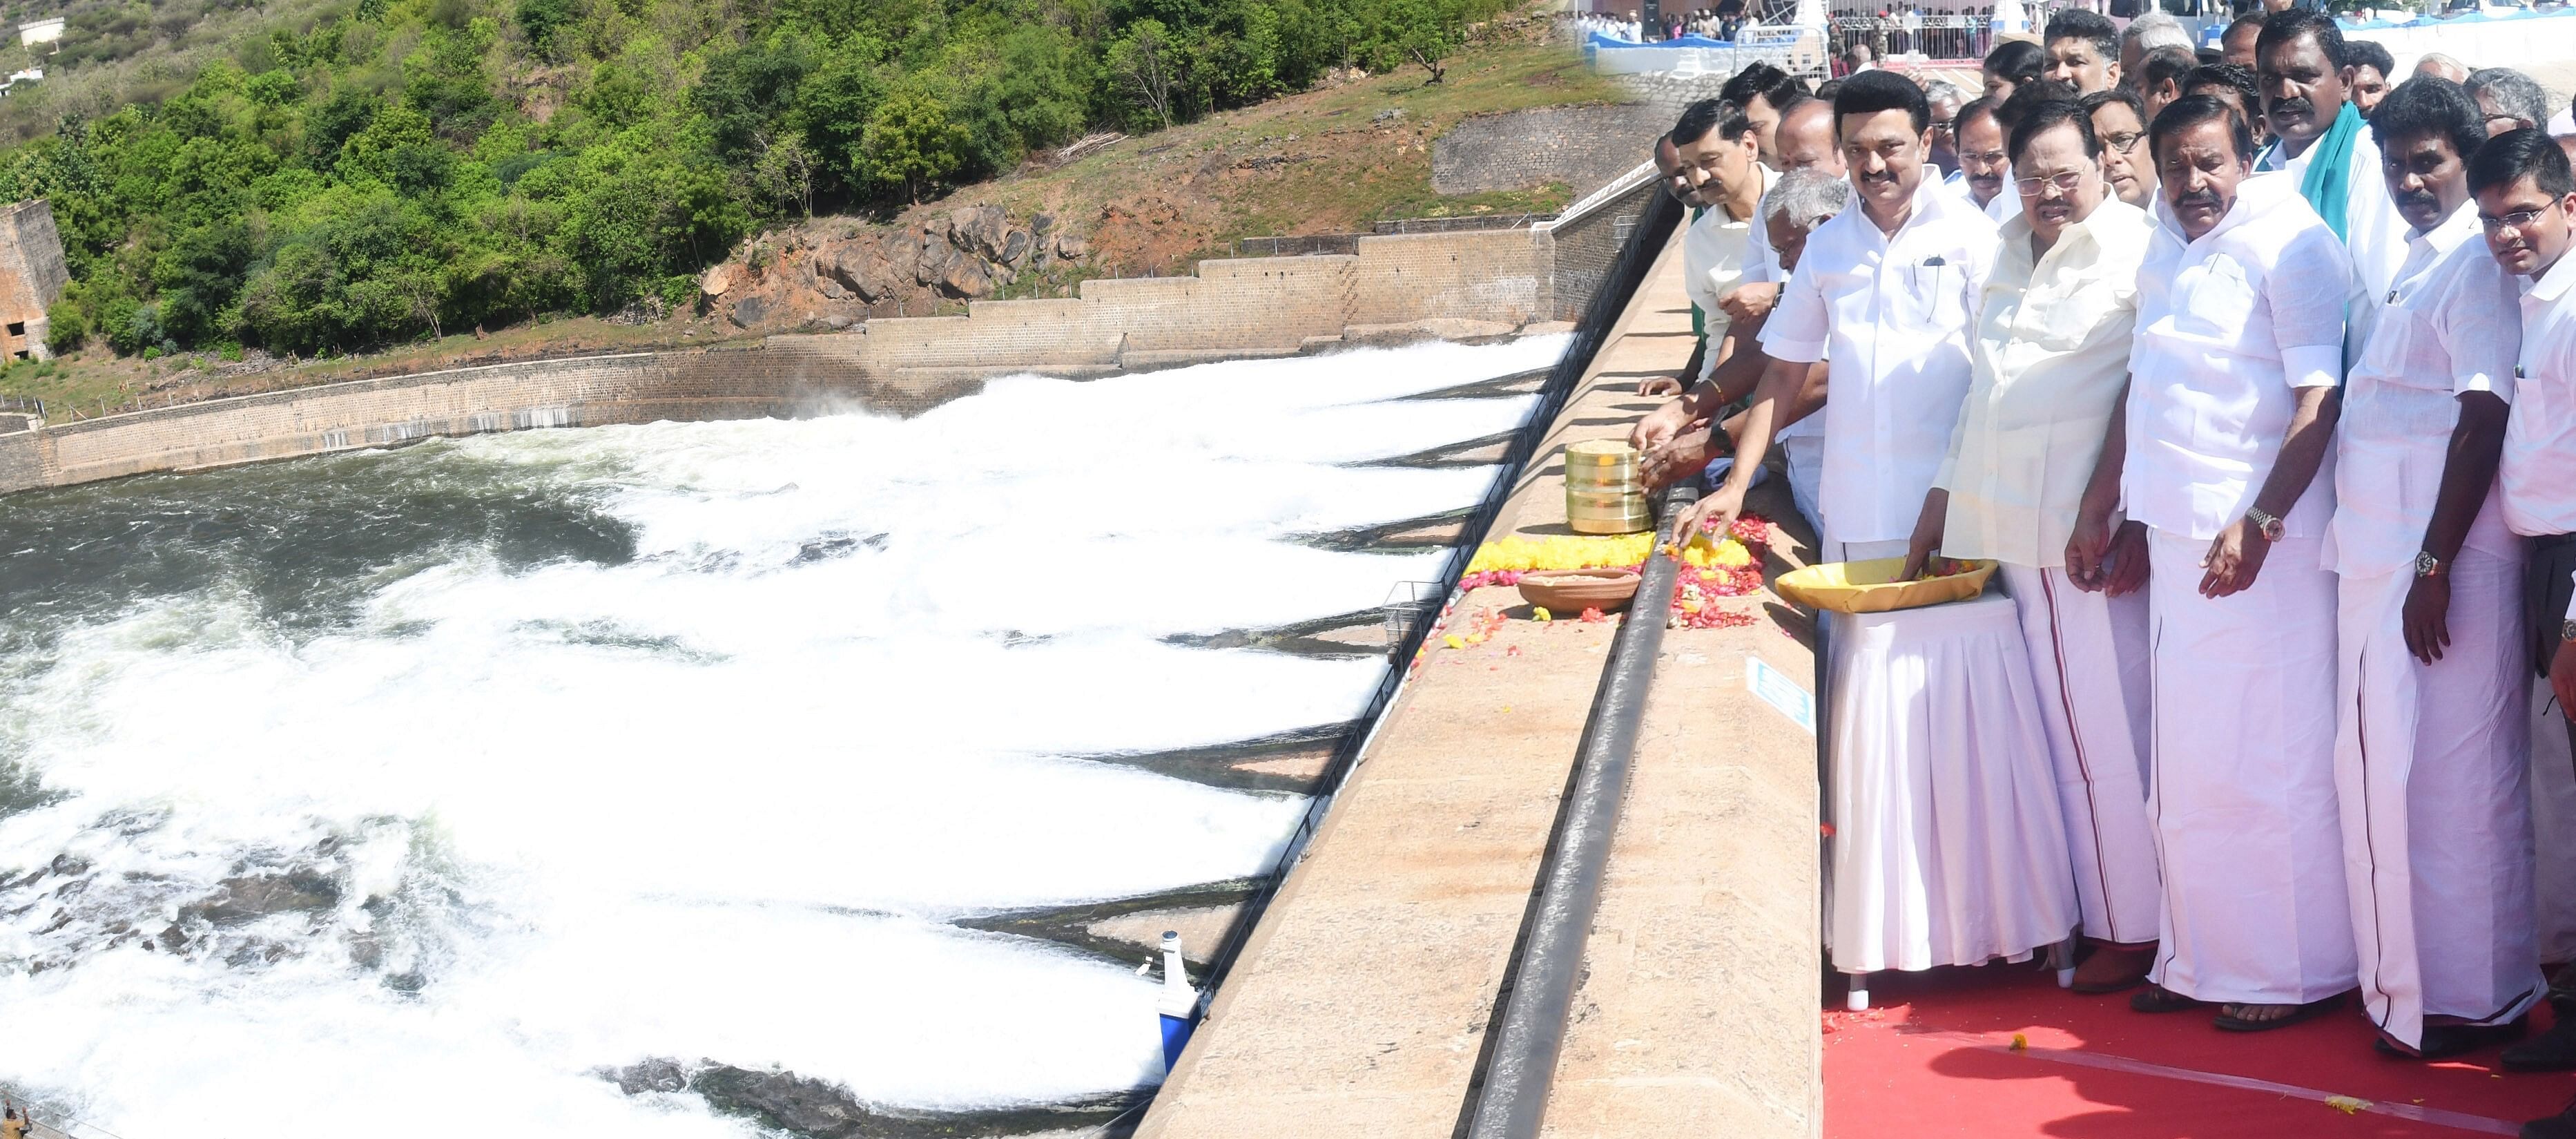
[[[1667,526],[1695,500],[1692,487],[1672,487]],[[1646,570],[1636,582],[1636,600],[1628,603],[1628,618],[1610,644],[1610,660],[1602,662],[1592,719],[1574,755],[1574,791],[1558,812],[1556,843],[1538,871],[1538,912],[1512,969],[1512,997],[1502,1013],[1502,1036],[1484,1072],[1468,1139],[1535,1139],[1548,1116],[1548,1087],[1566,1044],[1574,987],[1584,977],[1584,943],[1600,910],[1610,840],[1628,799],[1636,732],[1646,719],[1646,693],[1654,688],[1654,662],[1664,652],[1664,624],[1672,616],[1680,562],[1662,554],[1662,528],[1656,536],[1656,549],[1646,554]]]

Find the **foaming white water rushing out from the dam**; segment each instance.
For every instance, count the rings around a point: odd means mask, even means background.
[[[1151,1082],[1149,982],[945,920],[1265,868],[1296,799],[1077,755],[1358,714],[1376,660],[1164,636],[1430,577],[1278,539],[1473,503],[1347,464],[1515,425],[1388,399],[1561,348],[0,500],[0,1080],[124,1139],[750,1131],[600,1077],[649,1057]]]

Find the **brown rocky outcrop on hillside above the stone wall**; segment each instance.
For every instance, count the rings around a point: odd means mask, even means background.
[[[1002,206],[958,206],[896,227],[835,232],[835,224],[752,240],[698,281],[703,309],[762,332],[842,327],[871,314],[987,299],[1023,273],[1090,255],[1090,245],[1054,216],[1015,222]]]

